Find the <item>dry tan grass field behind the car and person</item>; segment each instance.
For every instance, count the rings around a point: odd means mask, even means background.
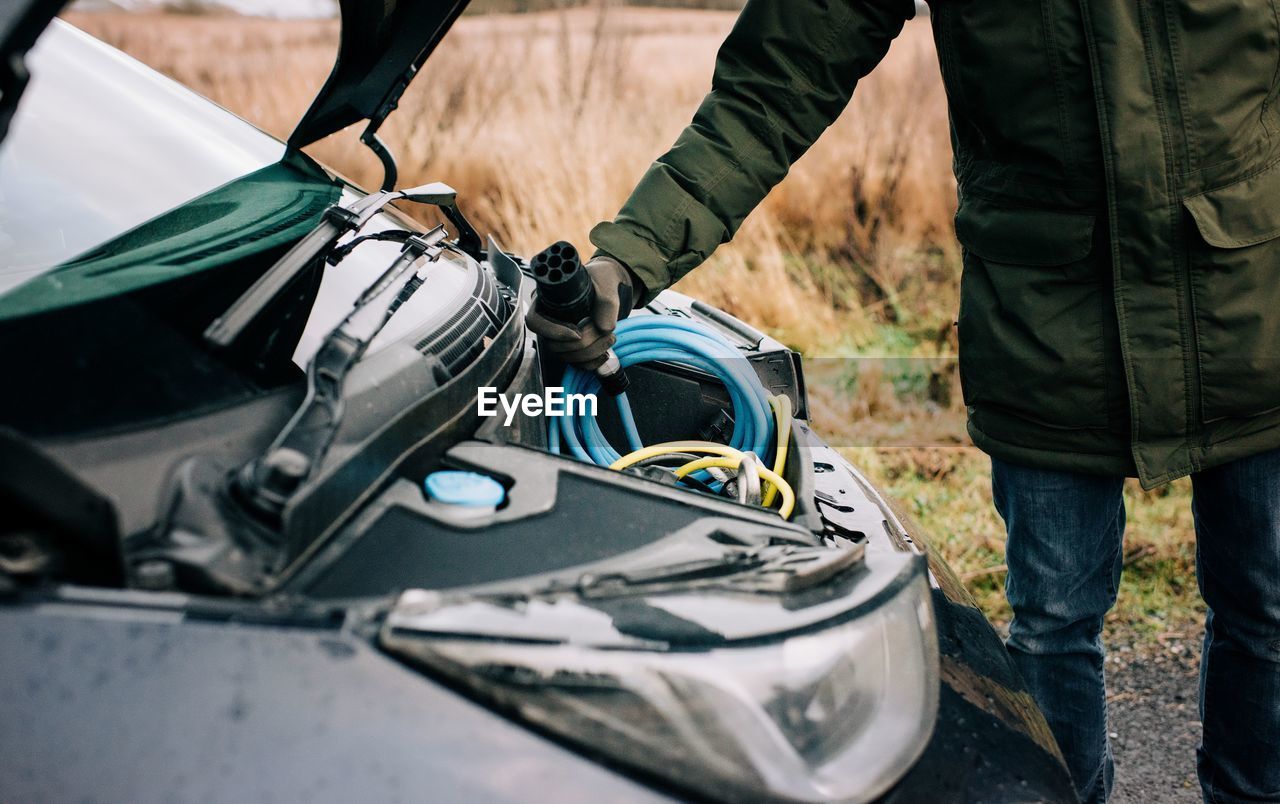
[[[282,137],[323,82],[338,33],[319,20],[70,19]],[[384,128],[401,182],[453,184],[509,248],[585,246],[687,123],[732,19],[635,8],[465,18]],[[357,133],[314,155],[375,186],[380,169]],[[735,243],[680,289],[810,357],[817,424],[908,503],[1001,620],[1002,531],[954,382],[950,161],[928,20],[915,20]],[[1185,484],[1130,490],[1114,627],[1161,636],[1196,618],[1187,503]]]

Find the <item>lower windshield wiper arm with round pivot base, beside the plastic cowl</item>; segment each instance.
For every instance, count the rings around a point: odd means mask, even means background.
[[[237,490],[242,499],[257,511],[278,516],[293,492],[320,466],[342,424],[347,375],[396,311],[422,287],[428,266],[445,248],[445,236],[444,227],[436,227],[426,234],[408,237],[399,256],[365,288],[347,318],[325,337],[307,365],[307,396],[302,406],[268,451],[244,465],[237,476]],[[401,285],[371,326],[356,321],[362,311],[424,257],[426,265]]]

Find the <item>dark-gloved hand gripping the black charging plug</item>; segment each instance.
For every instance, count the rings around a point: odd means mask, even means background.
[[[538,335],[541,348],[570,365],[594,371],[604,364],[605,353],[613,348],[613,330],[618,319],[631,314],[636,288],[631,271],[612,257],[593,257],[585,268],[595,288],[595,306],[590,320],[581,326],[571,326],[549,319],[538,311],[535,293],[525,323]]]

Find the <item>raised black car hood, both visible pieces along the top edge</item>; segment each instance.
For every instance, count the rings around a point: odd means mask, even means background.
[[[289,136],[291,149],[389,115],[468,0],[340,0],[333,72]],[[0,0],[0,141],[27,84],[24,58],[68,0]]]

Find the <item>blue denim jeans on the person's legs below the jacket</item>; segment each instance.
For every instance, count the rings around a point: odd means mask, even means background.
[[[1192,476],[1206,801],[1280,801],[1280,451]],[[1085,801],[1111,794],[1102,617],[1123,567],[1124,478],[992,460],[1009,531],[1009,653]]]

